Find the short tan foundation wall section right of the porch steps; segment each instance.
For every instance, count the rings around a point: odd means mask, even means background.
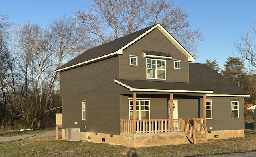
[[[244,137],[244,129],[240,130],[216,130],[207,134],[208,139],[228,139]]]

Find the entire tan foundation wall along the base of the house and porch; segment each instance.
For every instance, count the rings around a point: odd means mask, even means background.
[[[189,144],[184,132],[172,133],[150,133],[150,134],[129,134],[110,135],[104,133],[81,132],[81,141],[94,143],[107,143],[112,145],[124,145],[127,147],[153,147],[161,145]],[[208,139],[228,139],[244,137],[244,130],[219,130],[211,131]],[[62,129],[62,139],[65,139],[65,129]]]

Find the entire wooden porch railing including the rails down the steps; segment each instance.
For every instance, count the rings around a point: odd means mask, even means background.
[[[207,141],[207,127],[203,118],[170,119],[158,120],[136,120],[136,131],[133,130],[133,120],[120,120],[121,133],[165,133],[184,131],[192,143],[196,143],[196,136]],[[173,131],[172,131],[173,130]]]

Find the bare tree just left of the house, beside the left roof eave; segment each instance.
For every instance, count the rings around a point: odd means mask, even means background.
[[[51,20],[47,30],[44,33],[45,38],[41,43],[41,50],[37,54],[37,64],[40,67],[39,71],[44,72],[40,74],[40,81],[44,82],[45,88],[45,101],[43,106],[41,106],[42,114],[40,116],[39,126],[46,112],[61,108],[61,104],[51,101],[55,90],[58,90],[59,76],[54,70],[87,49],[85,39],[82,38],[84,34],[65,15]],[[42,86],[40,90],[43,90]]]

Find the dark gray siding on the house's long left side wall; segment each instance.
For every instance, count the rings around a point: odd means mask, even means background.
[[[63,128],[119,135],[118,57],[60,73]],[[86,100],[86,120],[82,120],[82,101]],[[74,124],[77,122],[77,124]]]

